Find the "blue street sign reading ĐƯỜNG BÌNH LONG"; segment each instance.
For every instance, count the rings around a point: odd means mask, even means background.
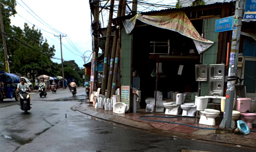
[[[234,16],[216,19],[215,33],[232,30],[233,29],[233,20],[234,20]]]

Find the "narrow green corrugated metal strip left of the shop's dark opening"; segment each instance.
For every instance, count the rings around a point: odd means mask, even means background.
[[[121,44],[121,86],[130,86],[132,34],[126,34],[124,29],[122,29]]]

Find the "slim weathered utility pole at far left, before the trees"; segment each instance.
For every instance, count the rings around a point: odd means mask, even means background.
[[[7,73],[10,73],[9,62],[8,62],[8,55],[7,55],[6,39],[5,39],[5,35],[4,35],[4,23],[3,23],[3,18],[2,18],[1,6],[2,6],[2,4],[0,3],[0,26],[1,26],[3,45],[4,45],[5,69],[6,69]]]

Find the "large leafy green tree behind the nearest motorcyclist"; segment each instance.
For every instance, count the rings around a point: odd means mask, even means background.
[[[33,80],[36,75],[52,73],[53,66],[56,66],[51,60],[55,52],[54,45],[50,47],[47,40],[43,39],[41,31],[35,29],[35,26],[30,28],[25,23],[23,31],[20,31],[20,28],[15,26],[12,29],[14,37],[22,43],[14,38],[8,40],[8,50],[12,55],[10,60],[13,61],[10,70],[28,77],[32,76]]]

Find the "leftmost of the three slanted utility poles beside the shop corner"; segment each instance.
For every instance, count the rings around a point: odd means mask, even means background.
[[[107,39],[105,44],[105,55],[104,55],[104,65],[103,65],[103,74],[102,74],[102,86],[101,91],[102,95],[105,95],[106,92],[106,77],[108,73],[108,56],[109,56],[109,46],[110,46],[110,35],[111,35],[111,25],[112,25],[112,18],[114,12],[114,0],[110,1],[110,11],[108,17],[108,28],[107,28]]]

